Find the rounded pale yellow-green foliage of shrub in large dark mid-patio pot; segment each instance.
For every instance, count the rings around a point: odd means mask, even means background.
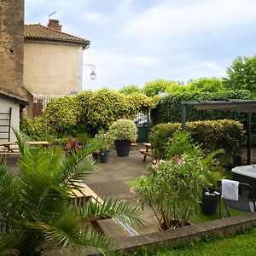
[[[135,123],[128,119],[119,119],[109,128],[115,140],[137,140],[137,127]]]

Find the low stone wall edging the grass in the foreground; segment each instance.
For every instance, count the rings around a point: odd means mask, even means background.
[[[119,249],[126,253],[139,251],[142,247],[157,250],[160,247],[175,247],[203,236],[233,236],[241,230],[256,226],[256,212],[242,216],[220,218],[202,224],[193,224],[176,230],[165,230],[143,236],[120,237],[116,239]]]

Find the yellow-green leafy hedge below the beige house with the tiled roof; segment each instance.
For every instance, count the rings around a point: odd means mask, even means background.
[[[134,119],[138,111],[155,108],[159,97],[143,93],[125,96],[115,90],[85,90],[78,96],[65,96],[49,102],[43,116],[32,121],[24,120],[21,131],[31,137],[45,134],[55,136],[87,133],[94,136],[124,116]]]

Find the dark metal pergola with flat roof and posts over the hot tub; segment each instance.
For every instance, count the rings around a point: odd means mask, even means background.
[[[222,110],[247,113],[247,165],[251,164],[251,123],[252,113],[256,113],[256,100],[229,100],[228,102],[181,102],[182,130],[186,130],[186,107],[193,106],[199,110]]]

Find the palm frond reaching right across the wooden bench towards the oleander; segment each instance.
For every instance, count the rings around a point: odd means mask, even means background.
[[[142,214],[141,207],[132,206],[124,201],[114,201],[113,199],[105,200],[104,203],[98,204],[88,201],[84,205],[76,205],[77,212],[81,218],[90,221],[93,218],[118,218],[125,224],[132,224],[143,227],[144,222],[139,216]]]

